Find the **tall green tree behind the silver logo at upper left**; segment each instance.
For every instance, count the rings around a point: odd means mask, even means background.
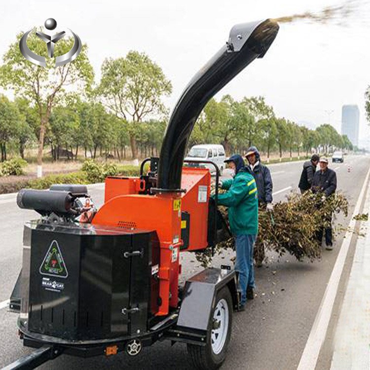
[[[37,164],[42,164],[42,151],[45,132],[53,106],[68,89],[83,91],[93,81],[93,69],[87,58],[87,46],[83,45],[79,56],[71,63],[55,67],[55,59],[46,58],[46,68],[36,66],[26,60],[19,50],[19,40],[12,43],[3,56],[0,67],[0,84],[12,89],[19,97],[29,99],[37,107],[39,118]],[[47,57],[45,42],[31,34],[27,39],[29,48],[38,55]],[[54,57],[68,52],[74,44],[72,37],[59,40]]]

